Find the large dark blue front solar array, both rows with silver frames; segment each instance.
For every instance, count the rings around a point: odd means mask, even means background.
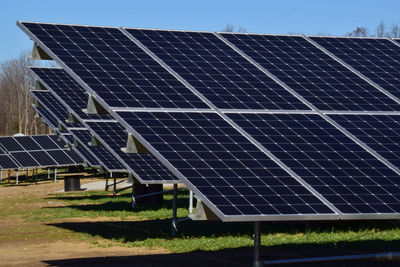
[[[400,217],[395,41],[19,26],[222,220]]]

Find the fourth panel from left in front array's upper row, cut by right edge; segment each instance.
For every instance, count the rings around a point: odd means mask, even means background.
[[[400,97],[400,47],[389,39],[310,38],[383,89]]]

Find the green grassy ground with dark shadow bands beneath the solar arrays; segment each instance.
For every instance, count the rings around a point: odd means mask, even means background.
[[[47,182],[46,182],[47,183]],[[5,190],[10,185],[1,185]],[[40,186],[40,185],[38,185]],[[1,193],[1,192],[0,192]],[[207,255],[230,264],[247,265],[252,253],[251,223],[182,222],[170,234],[172,195],[158,206],[130,205],[130,190],[115,198],[109,192],[47,193],[1,199],[0,218],[19,218],[30,225],[10,228],[1,242],[32,240],[80,240],[92,247],[163,248],[176,255]],[[178,194],[178,216],[188,215],[188,192]],[[354,253],[400,251],[400,230],[389,221],[293,222],[262,224],[264,259],[330,256]],[[400,262],[361,262],[361,265],[396,266]],[[342,263],[354,265],[354,262]],[[317,266],[317,265],[316,265]]]

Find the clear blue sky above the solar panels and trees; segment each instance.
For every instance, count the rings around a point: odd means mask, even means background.
[[[0,62],[31,49],[17,20],[256,33],[344,35],[380,21],[400,24],[399,0],[11,0],[0,5]]]

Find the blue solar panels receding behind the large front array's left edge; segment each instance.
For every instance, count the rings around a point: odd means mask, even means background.
[[[128,170],[144,182],[170,182],[177,178],[151,154],[126,154],[121,148],[126,146],[127,133],[117,122],[109,121],[110,115],[82,112],[87,106],[87,95],[68,74],[56,68],[32,68],[33,73],[50,91],[31,91],[32,95],[60,121],[68,117],[69,111],[80,120],[87,130],[70,130],[77,140],[101,162],[110,172]],[[83,117],[81,117],[81,115]],[[85,122],[84,122],[85,119]],[[68,127],[68,125],[66,125]],[[91,131],[89,131],[91,130]],[[104,146],[88,146],[91,134],[100,139]],[[78,148],[79,149],[79,148]],[[90,154],[89,152],[89,154]],[[113,152],[113,153],[112,153]],[[116,154],[116,155],[115,155]],[[92,155],[92,157],[93,157]],[[122,163],[121,163],[122,162]]]

